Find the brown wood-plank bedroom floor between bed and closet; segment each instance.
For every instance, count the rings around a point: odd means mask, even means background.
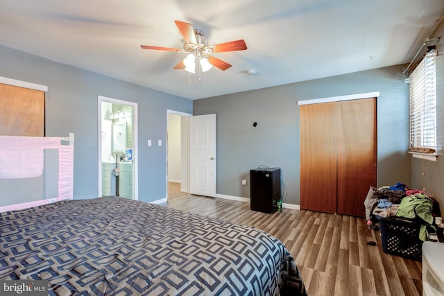
[[[364,218],[284,209],[264,214],[248,202],[185,195],[167,207],[252,225],[291,252],[309,295],[422,295],[421,263],[382,252]],[[375,241],[376,246],[368,245]]]

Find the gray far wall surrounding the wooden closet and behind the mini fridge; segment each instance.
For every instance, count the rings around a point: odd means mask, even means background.
[[[216,193],[250,197],[249,170],[278,166],[287,189],[284,202],[300,204],[299,108],[297,101],[380,92],[377,98],[377,186],[411,183],[406,66],[334,76],[193,101],[194,115],[216,114]],[[253,127],[253,122],[257,127]],[[249,183],[248,183],[249,184]],[[365,197],[363,197],[365,198]]]

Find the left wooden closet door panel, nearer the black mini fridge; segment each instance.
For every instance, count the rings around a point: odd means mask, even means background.
[[[300,208],[336,213],[336,103],[300,106]]]

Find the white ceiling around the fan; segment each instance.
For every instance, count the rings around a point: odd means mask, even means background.
[[[0,0],[0,44],[196,99],[409,63],[443,15],[443,0]],[[140,48],[182,48],[176,19],[248,49],[189,85],[185,53]]]

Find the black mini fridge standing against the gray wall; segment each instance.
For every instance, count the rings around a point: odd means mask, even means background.
[[[250,170],[250,209],[273,213],[280,197],[280,168]]]

